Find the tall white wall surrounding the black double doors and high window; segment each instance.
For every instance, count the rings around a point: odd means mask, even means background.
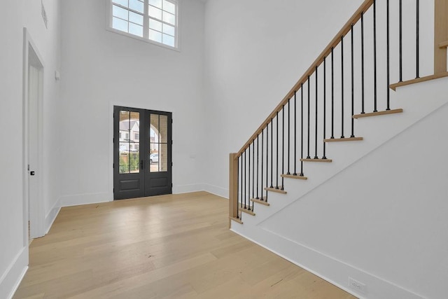
[[[106,30],[106,0],[62,3],[62,205],[112,200],[113,105],[173,113],[173,191],[202,190],[204,4],[179,1],[181,50]]]

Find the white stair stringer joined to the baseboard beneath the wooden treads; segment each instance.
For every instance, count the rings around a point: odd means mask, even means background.
[[[327,254],[324,249],[316,249],[306,242],[297,242],[287,235],[282,235],[279,233],[281,225],[277,225],[276,222],[284,218],[283,214],[286,211],[294,209],[295,204],[300,204],[301,208],[309,214],[318,213],[318,211],[311,211],[312,202],[309,202],[309,196],[307,195],[313,193],[314,189],[318,189],[319,186],[330,181],[333,177],[337,179],[336,174],[344,172],[344,169],[351,167],[351,165],[356,166],[357,162],[364,160],[363,158],[367,155],[382,148],[382,145],[386,146],[400,133],[406,133],[405,131],[412,125],[418,125],[419,121],[426,118],[430,113],[434,111],[437,113],[437,109],[442,109],[441,107],[448,102],[446,96],[448,95],[447,83],[448,79],[442,78],[398,89],[396,93],[398,99],[394,106],[402,107],[405,110],[404,113],[395,116],[379,116],[357,120],[356,136],[364,137],[364,141],[328,145],[328,157],[334,160],[333,163],[329,165],[306,165],[308,181],[285,180],[287,195],[269,194],[270,207],[255,205],[256,216],[246,215],[244,225],[232,223],[232,230],[354,295],[365,296],[365,298],[423,298],[423,296],[418,295],[418,288],[415,288],[416,291],[409,291],[409,289],[414,288],[415,284],[405,284],[396,277],[384,277],[384,274],[377,274],[374,271],[353,265],[351,262],[345,262],[343,258]],[[376,187],[372,186],[372,190],[375,190]],[[347,188],[349,188],[349,184],[347,184]],[[366,191],[367,193],[370,192],[370,190]],[[328,196],[334,195],[329,194]],[[334,204],[337,204],[337,202]],[[332,209],[332,206],[328,209]],[[344,219],[347,217],[351,218],[351,215],[341,216]],[[323,221],[323,224],[329,225],[325,221]],[[306,226],[307,223],[297,221],[297,223],[291,223],[291,225]],[[369,290],[367,295],[355,293],[355,291],[348,289],[348,277],[354,277],[366,283],[367,290]],[[407,286],[408,289],[402,286]]]

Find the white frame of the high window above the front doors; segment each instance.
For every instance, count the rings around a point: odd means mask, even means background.
[[[167,49],[176,50],[176,51],[180,52],[181,47],[180,47],[179,36],[180,36],[180,32],[181,32],[181,29],[180,29],[181,28],[181,26],[180,26],[181,18],[179,16],[179,11],[181,10],[181,8],[180,8],[181,1],[166,0],[166,1],[173,3],[176,6],[176,15],[175,15],[176,25],[174,26],[174,30],[175,30],[174,47],[166,45],[165,43],[159,43],[158,41],[153,41],[153,40],[149,39],[149,18],[151,18],[151,17],[149,16],[149,13],[148,13],[148,8],[150,5],[148,0],[141,0],[141,1],[144,1],[143,37],[134,35],[134,34],[130,34],[129,32],[123,32],[121,30],[113,28],[112,27],[113,26],[113,5],[116,5],[121,8],[124,8],[124,7],[120,6],[119,4],[113,4],[113,0],[105,0],[105,1],[106,1],[106,7],[107,7],[107,9],[106,9],[106,30],[108,30],[109,32],[114,32],[114,33],[121,34],[121,35],[124,35],[127,37],[131,37],[132,39],[144,41],[146,43],[152,43],[153,45],[160,46],[162,48],[167,48]],[[132,10],[132,8],[125,8],[125,9],[127,11],[131,11],[132,13],[139,13],[137,11]],[[139,14],[141,14],[141,13],[139,13]],[[154,18],[151,18],[151,19],[154,19]],[[127,21],[127,22],[130,22],[130,21]],[[160,20],[160,22],[162,22],[162,20]],[[165,24],[165,23],[162,22],[162,24]]]

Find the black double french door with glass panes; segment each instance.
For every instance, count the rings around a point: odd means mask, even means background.
[[[172,193],[172,113],[114,106],[113,199]]]

